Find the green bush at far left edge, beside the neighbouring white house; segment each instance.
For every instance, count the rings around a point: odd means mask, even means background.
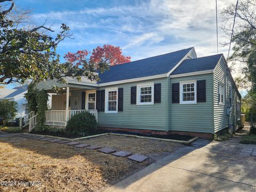
[[[0,101],[0,117],[3,119],[3,125],[7,125],[7,123],[14,119],[17,109],[17,102],[9,101],[9,100],[2,100]]]

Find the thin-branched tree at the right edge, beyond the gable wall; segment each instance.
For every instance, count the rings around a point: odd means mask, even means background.
[[[244,99],[244,107],[250,107],[247,113],[253,113],[256,109],[256,2],[253,0],[236,1],[222,11],[224,19],[222,29],[230,38],[233,44],[233,54],[229,61],[234,61],[236,65],[244,63],[242,69],[243,76],[236,78],[236,82],[242,88],[249,89],[249,94]],[[250,102],[250,103],[247,103]],[[248,112],[249,111],[249,112]],[[247,117],[249,117],[247,115]]]

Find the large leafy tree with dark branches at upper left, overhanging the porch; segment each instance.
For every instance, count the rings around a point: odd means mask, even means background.
[[[9,3],[10,2],[10,3]],[[9,8],[3,10],[3,5],[9,3]],[[54,32],[51,28],[41,25],[35,28],[19,28],[14,17],[10,17],[14,7],[11,0],[0,0],[0,84],[13,82],[24,83],[26,79],[35,82],[47,79],[57,79],[65,83],[65,77],[78,80],[81,76],[91,80],[98,79],[96,70],[105,70],[107,65],[95,65],[84,60],[81,65],[60,63],[60,55],[56,49],[65,38],[71,37],[70,29],[64,23],[55,38],[44,33]]]

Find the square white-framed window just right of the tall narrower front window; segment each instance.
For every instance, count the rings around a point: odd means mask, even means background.
[[[138,105],[154,104],[154,83],[137,85]]]

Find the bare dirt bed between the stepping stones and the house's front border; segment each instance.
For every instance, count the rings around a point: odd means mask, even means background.
[[[90,145],[97,145],[102,147],[113,148],[116,150],[127,150],[132,153],[139,153],[142,155],[174,152],[183,144],[159,141],[151,139],[141,139],[117,135],[102,135],[100,137],[78,140],[79,142],[88,143]]]

